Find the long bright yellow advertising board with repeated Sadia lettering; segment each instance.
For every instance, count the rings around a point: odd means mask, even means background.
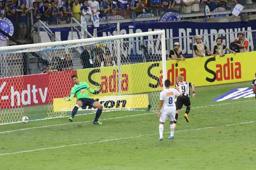
[[[176,77],[196,86],[209,86],[251,80],[255,70],[256,51],[228,54],[224,57],[189,58],[185,61],[168,60],[167,78],[171,86]],[[161,62],[147,62],[121,66],[122,95],[159,91],[162,89]],[[100,95],[118,95],[117,66],[106,68],[80,69],[78,77],[92,87],[101,85]]]

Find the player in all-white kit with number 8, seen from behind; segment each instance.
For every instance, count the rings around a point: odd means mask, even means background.
[[[170,88],[171,82],[170,80],[165,80],[165,90],[160,93],[160,101],[159,101],[159,110],[158,117],[159,119],[159,141],[163,140],[163,123],[168,119],[170,121],[171,135],[168,137],[169,139],[174,139],[174,124],[175,121],[175,113],[176,106],[174,103],[175,96],[178,97],[180,92],[174,88]],[[161,113],[162,110],[162,113]]]

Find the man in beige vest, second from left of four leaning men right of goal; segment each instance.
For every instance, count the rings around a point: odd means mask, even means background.
[[[196,36],[196,42],[193,45],[193,57],[205,57],[205,51],[212,55],[211,51],[204,45],[200,35]]]

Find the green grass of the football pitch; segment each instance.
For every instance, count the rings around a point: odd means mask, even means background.
[[[250,82],[196,88],[196,99],[191,99],[190,122],[182,117],[182,110],[172,141],[158,141],[159,122],[152,112],[102,113],[102,126],[92,124],[95,115],[76,116],[78,123],[60,118],[0,125],[0,132],[4,132],[64,124],[0,133],[0,154],[80,144],[0,155],[0,170],[254,170],[255,98],[211,102],[241,87],[250,87]],[[124,117],[131,115],[137,116]],[[169,131],[166,122],[165,138]],[[93,143],[97,141],[100,143]]]

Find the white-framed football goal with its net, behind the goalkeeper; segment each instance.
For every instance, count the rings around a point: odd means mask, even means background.
[[[22,116],[69,116],[76,98],[63,97],[70,95],[74,74],[91,88],[101,87],[90,96],[104,111],[155,111],[166,79],[165,50],[164,31],[2,47],[0,124],[20,122]],[[45,73],[26,75],[32,59],[45,61]],[[94,112],[87,106],[78,114]]]

